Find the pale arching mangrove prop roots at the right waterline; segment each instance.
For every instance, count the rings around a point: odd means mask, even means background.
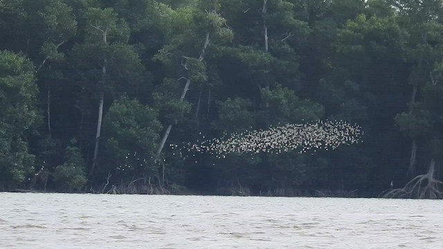
[[[435,160],[426,174],[415,176],[404,187],[388,190],[383,198],[443,199],[443,182],[434,178]]]

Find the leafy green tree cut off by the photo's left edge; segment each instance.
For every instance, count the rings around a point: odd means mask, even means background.
[[[37,123],[37,86],[33,64],[21,55],[0,51],[0,181],[24,183],[34,156],[28,153],[26,133]]]

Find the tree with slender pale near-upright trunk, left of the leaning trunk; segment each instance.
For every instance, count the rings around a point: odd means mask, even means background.
[[[105,93],[119,90],[124,83],[141,82],[143,66],[132,46],[127,45],[129,28],[118,19],[111,8],[89,8],[85,14],[84,44],[73,48],[73,59],[79,80],[90,89],[93,98],[98,98],[96,139],[93,149],[91,176],[98,163],[98,151],[105,104]]]

